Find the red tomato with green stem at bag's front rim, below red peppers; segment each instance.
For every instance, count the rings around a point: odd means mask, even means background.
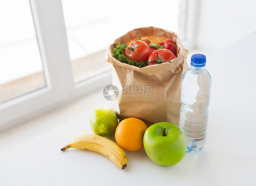
[[[157,57],[158,54],[158,57]],[[155,65],[155,64],[161,64],[163,62],[170,62],[170,60],[173,60],[175,55],[168,49],[159,49],[156,51],[153,51],[147,61],[148,65]]]

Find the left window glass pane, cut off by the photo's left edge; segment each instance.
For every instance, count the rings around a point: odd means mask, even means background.
[[[29,1],[0,3],[0,102],[46,86]]]

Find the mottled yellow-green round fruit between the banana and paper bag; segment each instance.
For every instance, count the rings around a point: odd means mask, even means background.
[[[117,115],[110,108],[100,107],[90,115],[90,127],[96,135],[111,136],[117,125]]]

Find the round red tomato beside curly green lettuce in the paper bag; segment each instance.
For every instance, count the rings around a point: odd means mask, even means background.
[[[127,48],[124,50],[124,56],[128,59],[141,62],[148,59],[151,54],[151,49],[142,40],[137,40],[130,43]]]

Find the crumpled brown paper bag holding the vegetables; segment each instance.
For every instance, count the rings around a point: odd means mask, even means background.
[[[117,42],[131,43],[149,39],[151,43],[173,40],[177,43],[177,58],[172,62],[138,68],[116,60],[112,50]],[[171,122],[179,126],[181,78],[188,69],[188,50],[180,42],[178,35],[157,27],[134,29],[119,37],[106,51],[107,62],[113,64],[113,85],[118,87],[119,96],[113,101],[113,110],[118,118],[134,117],[142,119],[148,126],[158,122]]]

